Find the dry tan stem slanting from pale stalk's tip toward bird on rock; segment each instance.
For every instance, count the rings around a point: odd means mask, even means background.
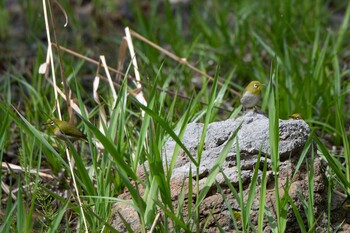
[[[164,53],[165,55],[167,55],[168,57],[170,57],[171,59],[186,65],[187,67],[189,67],[190,69],[192,69],[193,71],[203,75],[204,77],[208,78],[210,81],[214,81],[214,78],[211,77],[210,75],[208,75],[207,73],[201,71],[200,69],[196,68],[195,66],[193,66],[192,64],[188,63],[188,61],[186,61],[186,59],[180,58],[178,56],[176,56],[175,54],[163,49],[162,47],[160,47],[159,45],[149,41],[148,39],[146,39],[145,37],[141,36],[140,34],[138,34],[137,32],[134,32],[132,30],[130,30],[131,35],[135,36],[137,39],[142,40],[143,42],[151,45],[153,48],[159,50],[160,52]],[[218,84],[220,86],[223,86],[224,84],[221,81],[218,81]],[[228,89],[231,93],[237,95],[237,96],[241,96],[241,94],[235,90],[233,90],[232,88]]]

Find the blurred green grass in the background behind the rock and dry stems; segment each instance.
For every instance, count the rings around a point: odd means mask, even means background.
[[[282,118],[300,112],[316,124],[322,122],[336,128],[334,106],[338,97],[344,115],[349,115],[344,105],[349,102],[349,31],[341,28],[343,19],[348,23],[344,18],[345,1],[60,3],[69,18],[68,26],[63,27],[64,15],[54,7],[60,44],[95,59],[105,55],[110,66],[117,64],[124,27],[128,26],[210,75],[220,66],[220,77],[231,79],[230,87],[236,90],[242,90],[250,80],[268,83],[276,62]],[[41,2],[3,0],[0,7],[2,80],[17,74],[30,79],[37,72],[35,62],[43,61],[39,57],[47,47]],[[163,66],[159,82],[165,80],[161,77],[173,76],[169,89],[191,97],[202,88],[205,80],[198,74],[144,42],[134,43],[145,82],[152,83]],[[78,70],[77,61],[71,56],[64,55],[64,59],[67,73],[75,70],[79,79],[91,80],[95,65],[87,64]],[[337,72],[340,87],[335,84]],[[237,105],[236,96],[230,93],[224,100],[228,111]],[[223,115],[222,119],[226,117]],[[346,123],[349,125],[348,119]],[[334,136],[334,143],[339,144],[339,137]]]

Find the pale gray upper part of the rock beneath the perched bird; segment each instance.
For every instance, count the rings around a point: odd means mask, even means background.
[[[200,176],[210,171],[212,165],[219,157],[222,148],[225,146],[226,141],[240,125],[241,128],[238,131],[237,137],[242,159],[242,169],[253,169],[260,150],[263,156],[269,156],[269,119],[262,114],[248,112],[235,120],[230,119],[214,122],[208,126],[199,169]],[[279,129],[280,160],[284,161],[292,156],[298,156],[308,138],[310,132],[309,126],[303,120],[280,120]],[[201,139],[202,131],[203,124],[190,123],[182,138],[183,144],[194,156],[197,154],[197,147]],[[165,144],[163,156],[168,164],[172,159],[175,146],[176,142],[172,139]],[[231,152],[227,155],[223,169],[225,170],[227,167],[235,166],[235,163],[236,142],[234,142]],[[190,162],[188,157],[178,156],[172,176],[187,177],[190,166],[192,166],[193,171],[195,165]]]

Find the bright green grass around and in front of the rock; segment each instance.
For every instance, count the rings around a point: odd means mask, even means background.
[[[67,13],[72,14],[70,29],[80,35],[83,26],[73,16],[72,6],[67,1],[62,2]],[[93,2],[99,15],[103,15],[103,9],[98,6],[114,6],[108,1]],[[2,38],[11,29],[9,21],[6,20],[8,16],[3,2],[0,3],[0,18],[4,19],[0,25]],[[99,97],[106,112],[107,124],[101,121],[101,106],[93,100],[92,81],[88,83],[88,79],[85,80],[86,75],[94,76],[97,68],[63,54],[67,82],[82,112],[81,116],[76,115],[76,122],[88,135],[88,142],[79,142],[79,146],[54,139],[42,126],[56,112],[53,113],[55,99],[52,86],[44,75],[38,73],[39,65],[45,61],[46,45],[39,41],[41,35],[38,31],[44,28],[44,22],[37,14],[41,5],[39,2],[36,4],[21,4],[22,9],[26,10],[27,24],[35,29],[31,34],[31,41],[38,45],[31,73],[23,75],[17,67],[9,67],[0,78],[0,157],[4,161],[4,156],[14,153],[15,161],[23,168],[20,173],[4,170],[0,172],[2,181],[6,179],[7,182],[9,179],[9,190],[16,189],[13,195],[1,191],[1,197],[7,197],[2,209],[4,218],[0,220],[1,232],[69,232],[71,229],[67,211],[76,221],[75,226],[80,230],[84,229],[84,219],[76,201],[76,193],[72,191],[69,197],[63,197],[62,193],[51,190],[54,185],[50,182],[42,182],[39,173],[29,173],[31,169],[39,172],[43,168],[48,168],[48,173],[54,177],[58,177],[64,170],[61,180],[54,180],[62,182],[64,189],[70,190],[68,183],[72,177],[76,179],[77,193],[82,200],[82,209],[91,232],[115,231],[110,225],[112,205],[116,201],[115,197],[124,189],[130,193],[131,200],[127,203],[137,212],[143,232],[152,227],[159,211],[162,212],[162,220],[158,221],[156,231],[168,231],[168,221],[172,221],[176,232],[199,231],[199,207],[208,187],[215,183],[220,165],[236,140],[235,134],[228,140],[213,165],[206,188],[192,190],[198,184],[199,178],[197,176],[196,180],[189,179],[189,190],[181,190],[178,206],[173,205],[170,193],[170,179],[176,158],[182,149],[196,168],[199,167],[208,124],[226,119],[231,113],[231,117],[239,113],[239,97],[229,90],[242,91],[242,86],[251,80],[266,84],[262,110],[269,116],[271,159],[276,187],[279,169],[278,120],[300,112],[312,129],[296,169],[297,172],[304,159],[310,158],[307,174],[309,198],[303,200],[307,219],[302,219],[288,192],[284,197],[276,199],[277,216],[275,219],[271,218],[269,211],[273,210],[264,208],[266,159],[259,155],[258,160],[265,161],[260,183],[262,188],[257,229],[252,229],[249,216],[252,200],[257,198],[254,197],[255,190],[251,189],[248,201],[244,202],[242,184],[240,183],[237,191],[223,174],[227,186],[241,207],[237,211],[228,206],[236,230],[240,229],[238,224],[241,224],[243,231],[260,232],[263,230],[263,221],[269,216],[270,227],[275,232],[281,232],[286,228],[286,209],[289,206],[298,221],[300,231],[313,230],[317,218],[313,215],[312,161],[316,156],[321,156],[329,168],[326,174],[329,182],[328,195],[331,196],[334,186],[345,195],[350,195],[350,71],[346,60],[349,54],[350,3],[344,1],[330,5],[324,1],[299,1],[295,4],[294,1],[273,0],[193,0],[187,4],[171,5],[168,2],[155,1],[149,3],[145,9],[137,1],[133,1],[129,12],[132,20],[123,19],[120,21],[123,26],[130,26],[154,43],[185,58],[195,67],[215,77],[215,80],[208,81],[146,43],[134,40],[139,72],[144,82],[142,91],[148,104],[144,106],[139,103],[133,95],[133,86],[127,79],[116,88],[118,91],[115,100],[108,83],[101,81]],[[331,23],[331,17],[340,13],[341,24],[335,27]],[[96,22],[91,22],[91,25],[94,25],[92,28],[97,28]],[[88,53],[88,45],[85,46],[81,38],[75,37],[75,33],[64,37],[66,31],[60,28],[59,32],[62,33],[59,35],[62,44],[68,44],[73,50],[86,49]],[[70,43],[65,41],[66,38],[71,38]],[[120,39],[108,41],[111,41],[111,51],[116,51],[119,44],[113,42],[120,43]],[[54,50],[54,54],[55,52]],[[115,54],[109,56],[114,57]],[[57,57],[55,59],[58,60]],[[112,63],[115,64],[115,61],[109,61],[109,64]],[[56,69],[59,70],[58,65]],[[123,71],[134,75],[129,64]],[[223,85],[218,85],[219,82]],[[61,87],[60,83],[59,86]],[[91,89],[86,89],[86,86]],[[170,90],[175,95],[160,89]],[[62,103],[63,118],[68,119],[66,104],[62,98],[59,101]],[[142,111],[145,113],[144,117]],[[190,122],[204,123],[197,154],[191,154],[181,142],[186,125]],[[343,153],[335,155],[326,146],[323,140],[325,136],[331,138],[332,145],[341,146]],[[177,146],[174,154],[170,155],[170,164],[164,165],[162,149],[169,138],[176,141]],[[103,151],[97,148],[97,141],[103,146]],[[314,146],[317,147],[317,154],[314,153]],[[75,160],[73,173],[69,169],[66,148]],[[239,165],[239,142],[237,154]],[[149,170],[146,179],[142,180],[137,175],[137,169],[145,161],[148,162]],[[258,166],[254,169],[252,186],[257,182],[257,171]],[[189,177],[198,174],[196,169],[188,172]],[[142,187],[144,193],[141,193],[137,185]],[[217,188],[220,192],[220,186]],[[48,198],[60,203],[59,207],[51,209],[52,215],[49,214],[50,208],[39,200],[43,192]],[[195,200],[192,195],[196,197]],[[186,198],[187,218],[183,216],[181,209]],[[327,214],[330,219],[330,198]],[[38,220],[42,218],[47,221]],[[209,218],[210,216],[207,221]],[[330,223],[328,228],[331,230]]]

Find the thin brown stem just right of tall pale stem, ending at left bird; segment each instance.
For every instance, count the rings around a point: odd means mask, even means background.
[[[56,2],[56,1],[54,1],[54,2]],[[59,7],[62,10],[61,6],[59,6]],[[69,122],[71,124],[74,124],[73,110],[72,110],[71,101],[70,101],[72,93],[71,93],[71,90],[68,88],[67,80],[66,80],[66,77],[64,75],[61,50],[60,50],[59,41],[57,39],[55,18],[53,17],[53,11],[52,11],[52,0],[49,1],[49,9],[50,9],[50,18],[51,18],[51,23],[52,23],[52,31],[53,31],[53,35],[54,35],[56,45],[57,45],[56,46],[57,56],[58,56],[58,60],[59,60],[60,74],[61,74],[61,79],[62,79],[62,83],[63,83],[64,93],[68,97],[67,110],[68,110],[68,115],[69,115]]]

